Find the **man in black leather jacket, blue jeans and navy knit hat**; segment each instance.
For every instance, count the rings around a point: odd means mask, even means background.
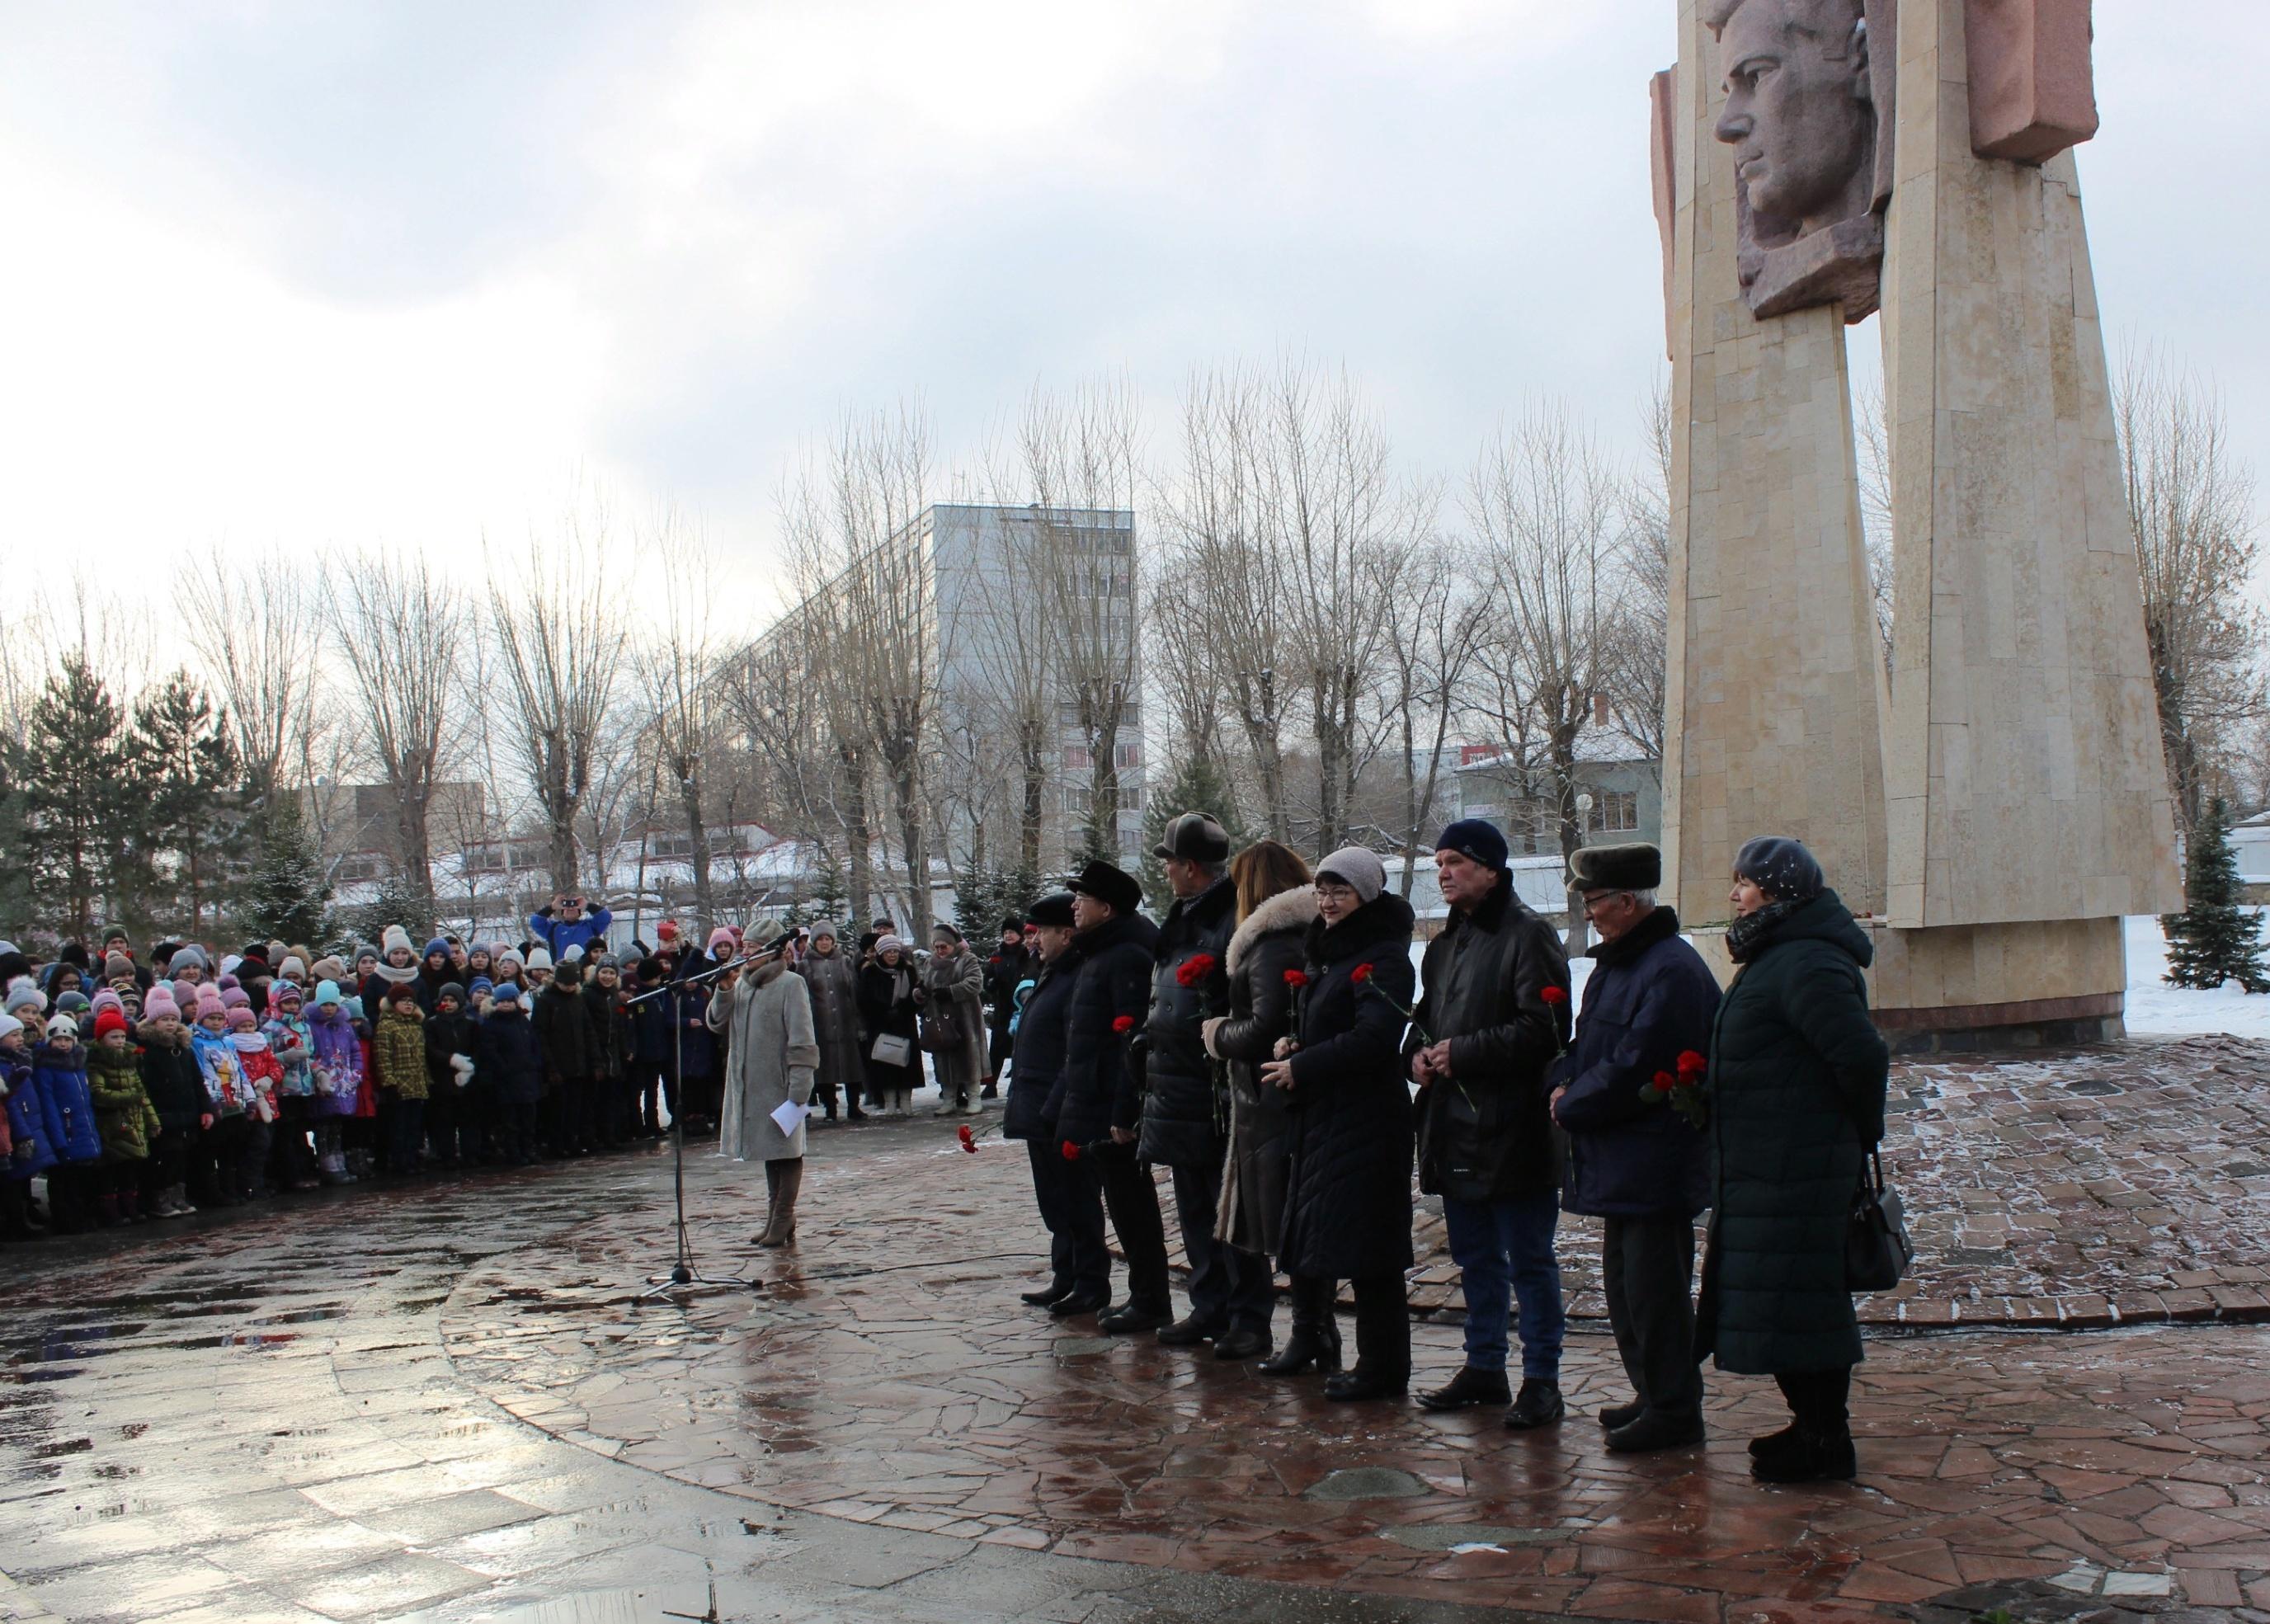
[[[1505,836],[1464,818],[1435,843],[1451,924],[1428,943],[1407,1043],[1419,1083],[1419,1188],[1441,1197],[1466,1292],[1466,1365],[1421,1395],[1430,1410],[1507,1404],[1516,1431],[1564,1415],[1559,1354],[1559,1154],[1546,1068],[1569,1038],[1569,956],[1514,895]],[[1521,1304],[1521,1395],[1505,1379]]]

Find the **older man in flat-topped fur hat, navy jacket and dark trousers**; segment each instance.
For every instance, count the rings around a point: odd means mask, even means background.
[[[1709,1156],[1659,1081],[1680,1081],[1680,1056],[1709,1052],[1718,979],[1680,940],[1680,918],[1657,904],[1662,884],[1664,854],[1653,845],[1569,859],[1569,886],[1600,945],[1575,1040],[1553,1068],[1553,1120],[1569,1131],[1562,1211],[1603,1220],[1607,1324],[1637,1395],[1600,1410],[1619,1454],[1702,1442],[1691,1283]]]

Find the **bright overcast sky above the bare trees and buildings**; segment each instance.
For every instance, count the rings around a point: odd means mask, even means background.
[[[953,461],[1035,379],[1167,407],[1283,348],[1446,475],[1530,395],[1630,445],[1673,9],[5,0],[7,552],[465,559],[581,470],[697,513],[754,620],[844,409],[919,395]],[[2082,150],[2116,345],[2209,368],[2254,461],[2265,59],[2263,0],[2100,0]]]

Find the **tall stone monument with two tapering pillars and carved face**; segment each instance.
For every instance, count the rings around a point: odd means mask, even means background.
[[[1673,357],[1678,906],[1814,845],[1909,1047],[2102,1038],[2181,906],[2070,148],[2088,0],[1682,0],[1653,86]],[[1882,309],[1877,659],[1843,325]]]

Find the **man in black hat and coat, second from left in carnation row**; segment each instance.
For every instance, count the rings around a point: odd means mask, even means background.
[[[1128,1299],[1096,1317],[1105,1333],[1158,1331],[1169,1320],[1167,1224],[1151,1165],[1135,1158],[1140,1102],[1128,1045],[1151,1002],[1158,927],[1142,918],[1133,874],[1096,861],[1071,881],[1081,972],[1065,1013],[1065,1070],[1049,1095],[1058,1152],[1103,1192],[1128,1261]]]

